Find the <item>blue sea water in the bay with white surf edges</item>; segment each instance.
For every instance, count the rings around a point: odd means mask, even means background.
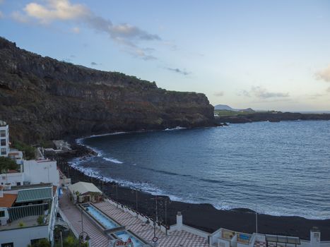
[[[217,208],[330,218],[330,121],[232,124],[78,140],[73,166],[151,193]]]

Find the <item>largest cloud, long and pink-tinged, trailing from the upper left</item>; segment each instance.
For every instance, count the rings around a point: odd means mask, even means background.
[[[23,8],[23,12],[12,13],[12,17],[20,23],[36,20],[40,24],[49,25],[55,21],[71,21],[86,25],[97,32],[106,33],[114,42],[124,47],[125,52],[143,60],[156,58],[151,50],[141,48],[139,42],[161,40],[158,35],[128,23],[115,25],[111,20],[97,16],[87,6],[71,4],[70,0],[45,0],[42,4],[31,2]],[[78,33],[80,28],[73,28],[71,31]]]

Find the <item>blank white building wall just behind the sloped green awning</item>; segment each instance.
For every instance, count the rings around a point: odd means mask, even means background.
[[[23,161],[24,181],[35,183],[53,183],[59,186],[59,170],[56,161],[24,160]]]

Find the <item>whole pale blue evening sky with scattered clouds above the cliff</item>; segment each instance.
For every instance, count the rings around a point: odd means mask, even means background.
[[[0,36],[213,105],[330,110],[329,0],[0,0]]]

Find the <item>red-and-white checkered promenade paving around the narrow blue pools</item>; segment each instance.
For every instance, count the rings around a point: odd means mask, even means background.
[[[64,220],[70,222],[69,225],[71,225],[76,236],[78,236],[81,231],[85,231],[88,236],[90,236],[90,243],[92,246],[97,243],[99,247],[108,247],[109,243],[115,241],[115,239],[127,241],[128,238],[133,242],[136,241],[134,246],[151,246],[150,243],[152,243],[154,237],[154,228],[151,224],[148,224],[139,217],[131,215],[130,212],[125,212],[125,210],[120,207],[116,207],[116,205],[113,205],[108,200],[88,205],[93,205],[95,210],[100,212],[102,215],[99,215],[102,217],[100,222],[104,222],[105,219],[111,219],[113,222],[117,222],[124,227],[124,230],[107,231],[107,227],[102,227],[102,224],[95,224],[95,220],[91,219],[87,213],[82,214],[81,210],[71,203],[68,193],[64,193],[59,203],[61,215],[63,215]],[[103,224],[105,224],[105,222]],[[159,227],[156,227],[155,234],[158,237],[157,246],[159,247],[208,246],[206,238],[180,229],[171,231],[166,235],[163,231],[160,231]],[[108,239],[109,236],[112,240]]]

